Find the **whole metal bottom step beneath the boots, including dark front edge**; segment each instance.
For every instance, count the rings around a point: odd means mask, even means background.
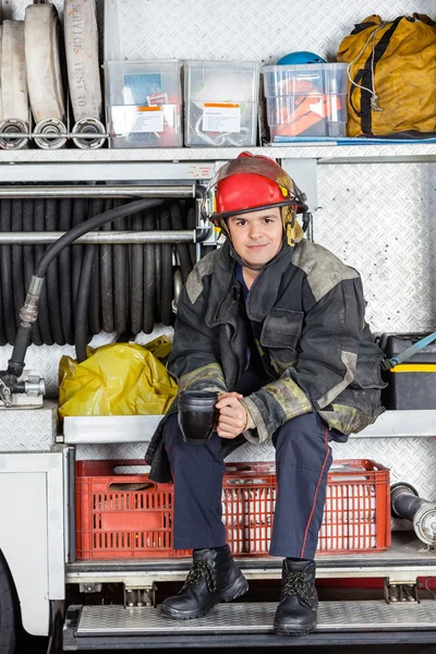
[[[71,606],[64,626],[64,650],[105,647],[141,649],[181,646],[189,641],[202,646],[234,646],[234,638],[258,644],[269,637],[271,646],[296,644],[351,644],[362,642],[436,642],[436,602],[386,604],[384,601],[323,602],[315,633],[298,639],[272,634],[275,603],[220,604],[204,618],[171,620],[159,607]],[[229,644],[222,640],[230,637]],[[419,638],[420,637],[420,638]],[[417,640],[416,640],[417,638]],[[187,641],[186,641],[187,639]],[[375,640],[374,640],[375,639]],[[308,642],[311,641],[311,643]],[[141,645],[141,647],[140,647]],[[192,646],[192,644],[190,645]]]

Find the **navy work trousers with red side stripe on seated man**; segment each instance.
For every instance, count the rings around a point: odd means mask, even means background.
[[[225,462],[221,439],[207,445],[184,443],[177,415],[164,428],[174,480],[174,547],[201,549],[226,544],[221,488]],[[278,494],[271,556],[313,559],[323,521],[330,432],[316,413],[284,423],[274,434]]]

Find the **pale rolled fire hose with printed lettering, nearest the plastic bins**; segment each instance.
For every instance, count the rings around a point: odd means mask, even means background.
[[[101,147],[101,87],[98,68],[98,31],[95,0],[65,0],[64,38],[73,132],[96,134],[96,138],[73,138],[82,149]]]

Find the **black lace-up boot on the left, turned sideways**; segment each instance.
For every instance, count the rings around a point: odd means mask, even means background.
[[[179,595],[164,601],[160,613],[177,620],[201,618],[219,602],[231,602],[249,590],[228,545],[194,549],[193,566]]]

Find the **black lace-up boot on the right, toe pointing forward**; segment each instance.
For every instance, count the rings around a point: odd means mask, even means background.
[[[315,589],[314,561],[284,559],[281,574],[280,604],[274,619],[274,632],[304,635],[316,628],[318,595]]]

